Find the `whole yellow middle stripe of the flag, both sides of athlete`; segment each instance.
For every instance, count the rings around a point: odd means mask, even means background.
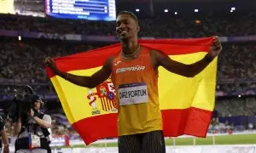
[[[199,52],[195,54],[182,54],[170,56],[172,59],[185,64],[191,64],[202,59],[206,53]],[[69,73],[79,76],[90,76],[101,67],[81,70],[69,71]],[[216,85],[217,59],[214,59],[204,71],[194,78],[178,76],[174,73],[166,71],[160,67],[159,77],[159,93],[160,93],[160,109],[186,109],[191,106],[207,111],[212,111],[214,107],[215,85]],[[61,99],[61,104],[66,112],[68,121],[78,122],[81,119],[97,116],[92,113],[100,112],[99,115],[116,113],[117,111],[104,111],[104,108],[113,109],[113,104],[107,99],[101,99],[96,92],[96,88],[91,91],[89,88],[79,87],[71,82],[67,82],[61,77],[52,77],[56,92]],[[87,96],[91,95],[91,99]],[[89,105],[90,101],[95,99],[94,105]]]

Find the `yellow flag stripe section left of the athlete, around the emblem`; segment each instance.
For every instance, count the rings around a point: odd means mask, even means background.
[[[68,71],[68,73],[79,75],[79,76],[90,76],[96,71],[100,70],[101,67],[81,70],[81,71]],[[61,99],[61,105],[66,112],[68,121],[73,124],[73,122],[78,122],[81,119],[92,116],[93,108],[90,106],[90,99],[87,96],[90,94],[89,88],[79,87],[71,82],[66,81],[61,77],[52,77],[51,81],[56,88],[57,94]],[[59,83],[58,83],[59,82]],[[96,93],[96,88],[91,89],[92,94]],[[109,114],[107,111],[102,110],[102,103],[97,95],[92,97],[96,98],[96,107],[98,111],[101,112],[100,115]],[[104,102],[104,101],[103,101]],[[105,101],[107,104],[107,102]],[[107,104],[107,107],[110,106]],[[97,114],[93,115],[96,116]]]

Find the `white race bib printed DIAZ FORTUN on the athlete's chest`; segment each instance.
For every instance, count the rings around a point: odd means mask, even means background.
[[[134,105],[148,102],[148,89],[144,82],[119,85],[119,105]]]

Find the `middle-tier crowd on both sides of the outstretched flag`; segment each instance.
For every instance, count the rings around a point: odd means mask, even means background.
[[[71,42],[43,42],[41,40],[0,42],[0,82],[14,79],[15,82],[49,82],[44,71],[44,58],[60,57],[99,48]],[[218,90],[226,92],[245,91],[256,87],[256,63],[254,43],[224,43],[218,58]],[[242,54],[241,54],[242,53]],[[237,83],[236,80],[243,82]],[[2,81],[1,81],[2,80]],[[231,82],[231,83],[227,83]],[[13,84],[11,84],[12,86]],[[0,93],[9,93],[11,86],[0,88]],[[44,92],[54,92],[51,86],[36,87]]]

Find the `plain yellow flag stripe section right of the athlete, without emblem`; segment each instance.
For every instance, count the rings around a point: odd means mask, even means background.
[[[170,58],[191,64],[202,59],[206,53],[183,54]],[[215,100],[217,58],[193,78],[182,77],[160,67],[160,109],[186,109],[191,106],[212,111]]]

